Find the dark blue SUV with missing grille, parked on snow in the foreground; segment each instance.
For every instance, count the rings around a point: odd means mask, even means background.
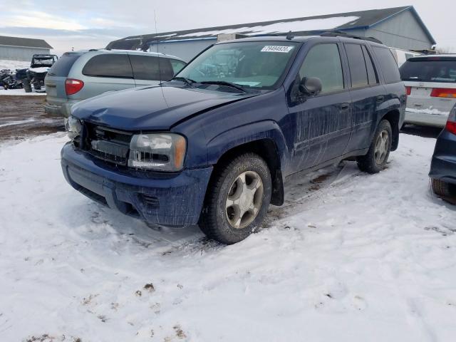
[[[63,175],[124,214],[198,223],[232,244],[261,227],[270,203],[284,203],[295,172],[347,158],[383,170],[405,101],[380,43],[336,34],[225,41],[162,86],[74,105]]]

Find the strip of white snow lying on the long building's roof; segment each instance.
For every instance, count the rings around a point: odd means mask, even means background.
[[[221,33],[244,33],[247,35],[257,34],[272,34],[272,33],[284,33],[284,32],[300,32],[300,31],[316,31],[316,30],[328,30],[336,28],[338,26],[348,24],[351,21],[356,21],[359,16],[334,16],[332,18],[324,19],[308,19],[298,21],[281,21],[275,24],[268,24],[264,26],[245,26],[240,28],[228,28],[226,30],[218,31],[199,31],[194,33],[182,34],[175,36],[175,33],[171,34],[170,37],[185,38],[192,36],[217,36]]]

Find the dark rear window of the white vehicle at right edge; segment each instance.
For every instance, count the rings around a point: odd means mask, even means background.
[[[456,82],[456,61],[409,60],[399,71],[402,81]]]

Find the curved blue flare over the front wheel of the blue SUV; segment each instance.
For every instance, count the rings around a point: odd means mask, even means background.
[[[279,125],[273,120],[263,120],[247,125],[240,125],[225,130],[207,142],[207,161],[209,165],[217,164],[218,160],[232,148],[256,140],[269,139],[274,142],[279,153],[281,168],[288,164],[289,150]]]

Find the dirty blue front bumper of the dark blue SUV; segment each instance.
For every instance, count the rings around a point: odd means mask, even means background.
[[[120,171],[67,143],[61,151],[67,182],[90,199],[151,224],[197,224],[212,167],[178,174]]]

